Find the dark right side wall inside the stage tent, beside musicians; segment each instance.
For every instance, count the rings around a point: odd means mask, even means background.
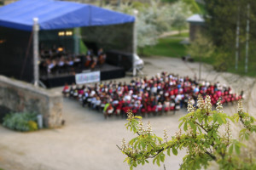
[[[103,48],[108,54],[109,64],[129,70],[132,67],[133,23],[111,26],[89,26],[81,28],[81,38],[87,48],[96,53]]]

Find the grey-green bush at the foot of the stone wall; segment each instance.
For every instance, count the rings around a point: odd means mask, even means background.
[[[26,132],[38,130],[37,114],[10,113],[3,118],[3,126],[13,130]]]

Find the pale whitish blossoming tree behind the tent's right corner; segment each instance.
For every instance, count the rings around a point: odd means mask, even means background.
[[[137,46],[143,49],[146,46],[153,46],[158,42],[160,34],[169,31],[172,27],[178,29],[185,26],[186,18],[191,14],[187,3],[177,2],[162,5],[159,0],[150,3],[121,3],[118,8],[105,6],[105,8],[115,9],[125,14],[133,15],[134,9],[137,14]]]

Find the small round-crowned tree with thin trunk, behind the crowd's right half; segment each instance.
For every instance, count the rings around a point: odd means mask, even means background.
[[[215,50],[212,42],[209,38],[202,36],[201,33],[197,33],[195,36],[195,40],[191,42],[188,46],[186,46],[187,52],[192,57],[198,57],[200,59],[199,62],[199,80],[201,80],[201,59],[207,58],[212,55]]]

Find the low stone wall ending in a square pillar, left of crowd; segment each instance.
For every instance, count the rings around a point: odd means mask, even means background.
[[[60,127],[62,122],[60,93],[0,76],[0,105],[11,111],[29,111],[43,115],[44,127]]]

